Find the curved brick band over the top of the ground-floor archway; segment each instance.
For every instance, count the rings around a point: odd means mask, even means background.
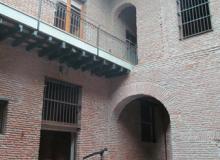
[[[166,89],[157,84],[150,82],[139,82],[122,86],[114,93],[111,103],[114,118],[118,119],[121,111],[131,101],[144,96],[152,97],[161,102],[170,116],[170,106],[175,97],[173,97]]]

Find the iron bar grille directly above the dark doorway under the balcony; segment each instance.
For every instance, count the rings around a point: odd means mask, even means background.
[[[80,86],[46,78],[42,113],[43,120],[77,124],[80,108]]]

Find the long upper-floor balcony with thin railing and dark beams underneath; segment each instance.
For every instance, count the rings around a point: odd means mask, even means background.
[[[0,0],[0,28],[0,41],[97,76],[125,75],[137,64],[136,45],[56,0]]]

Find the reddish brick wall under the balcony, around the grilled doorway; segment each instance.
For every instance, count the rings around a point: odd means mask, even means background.
[[[37,159],[45,76],[83,87],[80,156],[106,146],[106,79],[66,68],[60,73],[56,62],[23,47],[12,48],[8,41],[0,48],[0,96],[9,98],[6,131],[0,135],[1,160]]]

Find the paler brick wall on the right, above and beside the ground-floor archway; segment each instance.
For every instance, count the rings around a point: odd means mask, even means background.
[[[220,1],[210,0],[213,31],[182,41],[175,0],[112,2],[114,10],[136,6],[139,55],[129,77],[112,83],[112,110],[129,96],[151,95],[171,117],[172,159],[219,159]]]

